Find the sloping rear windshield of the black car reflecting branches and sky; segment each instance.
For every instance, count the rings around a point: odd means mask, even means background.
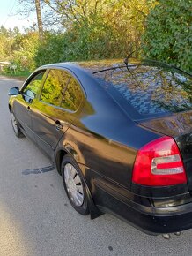
[[[141,115],[192,109],[192,77],[177,69],[139,64],[129,71],[120,67],[93,76],[102,87],[113,87]]]

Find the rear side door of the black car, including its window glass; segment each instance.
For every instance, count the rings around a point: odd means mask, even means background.
[[[77,117],[82,100],[78,81],[70,72],[57,69],[48,72],[40,99],[33,105],[33,132],[38,145],[51,158],[59,139]]]

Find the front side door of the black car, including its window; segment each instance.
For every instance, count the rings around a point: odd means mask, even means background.
[[[30,139],[34,139],[31,114],[32,105],[40,93],[45,72],[45,70],[36,72],[30,79],[26,80],[20,94],[17,96],[17,100],[13,102],[13,111],[18,119],[21,130]]]

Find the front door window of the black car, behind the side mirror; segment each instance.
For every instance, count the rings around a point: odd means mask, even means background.
[[[29,82],[29,84],[24,88],[23,93],[26,94],[29,97],[31,95],[33,95],[33,97],[35,97],[39,93],[39,91],[41,89],[41,81],[42,81],[42,78],[43,78],[44,74],[45,74],[45,71],[39,73],[38,75],[36,75]],[[30,93],[30,92],[33,92],[33,94]]]

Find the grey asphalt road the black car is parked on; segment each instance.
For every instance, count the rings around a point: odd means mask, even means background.
[[[167,241],[112,215],[78,215],[48,158],[12,131],[7,92],[20,84],[0,77],[0,256],[191,255],[192,230]]]

